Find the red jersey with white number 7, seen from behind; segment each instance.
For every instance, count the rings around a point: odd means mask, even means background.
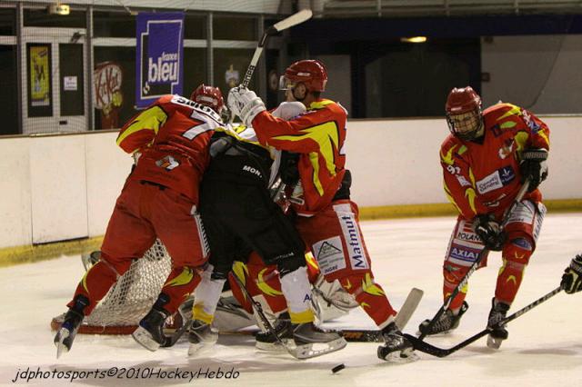
[[[121,129],[117,144],[141,156],[129,179],[162,184],[197,203],[208,143],[220,115],[180,95],[164,95]]]

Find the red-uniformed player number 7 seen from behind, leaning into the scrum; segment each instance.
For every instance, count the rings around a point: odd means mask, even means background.
[[[196,210],[198,185],[209,162],[210,137],[223,124],[224,100],[218,88],[204,84],[191,98],[165,95],[121,129],[117,144],[135,155],[135,169],[115,203],[101,259],[85,273],[67,304],[65,321],[55,335],[57,357],[71,349],[84,317],[156,237],[172,257],[172,271],[133,333],[135,341],[150,351],[165,343],[166,317],[199,281],[196,271],[206,266],[208,248]]]

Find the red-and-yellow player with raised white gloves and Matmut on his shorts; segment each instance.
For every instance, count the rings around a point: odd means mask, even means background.
[[[228,94],[229,108],[256,130],[258,141],[296,154],[296,182],[287,182],[297,213],[296,228],[316,256],[326,281],[338,280],[383,331],[382,359],[407,358],[412,344],[396,327],[396,311],[375,283],[370,258],[358,223],[356,203],[349,199],[346,174],[346,110],[321,98],[326,67],[301,60],[286,68],[279,88],[286,100],[306,106],[306,114],[285,121],[266,111],[255,92],[236,87]],[[342,182],[345,184],[342,184]]]

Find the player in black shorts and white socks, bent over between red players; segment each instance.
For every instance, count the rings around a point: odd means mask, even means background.
[[[303,110],[301,104],[282,104],[275,114],[288,117]],[[213,157],[200,193],[200,213],[212,253],[196,288],[188,332],[191,356],[216,342],[217,333],[211,323],[223,285],[233,262],[244,260],[249,251],[277,267],[292,324],[286,338],[294,342],[297,353],[312,357],[346,346],[339,334],[320,331],[313,323],[305,243],[268,190],[276,175],[276,166],[271,169],[276,156],[271,151],[258,144],[255,131],[249,126],[228,125],[213,137]]]

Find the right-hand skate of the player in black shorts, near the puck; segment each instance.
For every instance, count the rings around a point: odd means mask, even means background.
[[[324,332],[314,323],[292,324],[294,352],[297,359],[307,359],[344,348],[346,340],[337,332]]]

